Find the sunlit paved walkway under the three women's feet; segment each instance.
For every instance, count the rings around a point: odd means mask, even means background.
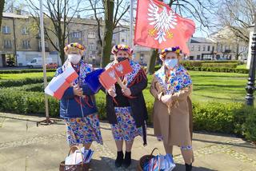
[[[54,125],[39,125],[44,117],[23,116],[0,113],[0,170],[58,170],[58,164],[66,157],[69,147],[66,144],[65,125],[58,121]],[[143,147],[142,138],[134,141],[132,165],[129,169],[115,169],[116,149],[110,125],[102,122],[104,145],[93,143],[94,158],[90,170],[136,170],[138,159],[158,147],[164,153],[161,141],[153,136],[153,129],[148,128],[148,145]],[[194,169],[210,170],[256,170],[256,147],[237,137],[220,134],[194,133]],[[174,169],[185,170],[178,148],[174,148]]]

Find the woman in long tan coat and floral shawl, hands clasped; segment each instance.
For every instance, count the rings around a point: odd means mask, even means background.
[[[192,81],[190,74],[179,64],[179,47],[162,50],[162,67],[154,74],[150,93],[154,101],[154,134],[161,137],[166,153],[172,153],[173,145],[181,148],[186,171],[192,169],[194,155],[190,133],[190,98]]]

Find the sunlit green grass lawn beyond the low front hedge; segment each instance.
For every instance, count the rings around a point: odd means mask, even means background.
[[[244,101],[247,74],[190,71],[190,75],[194,101]],[[54,72],[47,73],[47,76],[53,77]],[[42,73],[0,74],[0,80],[22,78],[42,78]],[[149,92],[152,76],[148,78],[149,86],[144,90],[144,96],[146,101],[153,101]],[[98,93],[98,97],[102,96],[103,93]]]

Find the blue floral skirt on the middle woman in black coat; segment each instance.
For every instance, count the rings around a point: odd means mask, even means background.
[[[115,107],[117,124],[111,124],[112,134],[115,141],[133,141],[135,137],[143,136],[142,127],[137,128],[134,117],[130,115],[130,107]]]

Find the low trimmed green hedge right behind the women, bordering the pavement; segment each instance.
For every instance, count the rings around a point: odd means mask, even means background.
[[[0,89],[0,111],[11,113],[45,113],[44,93],[41,84]],[[96,96],[100,119],[106,119],[106,98],[101,92]],[[59,116],[59,104],[49,97],[50,116]],[[153,111],[154,99],[146,102],[149,115]],[[240,102],[193,103],[194,130],[218,133],[235,133],[256,141],[256,109]],[[152,124],[151,116],[148,124]]]

